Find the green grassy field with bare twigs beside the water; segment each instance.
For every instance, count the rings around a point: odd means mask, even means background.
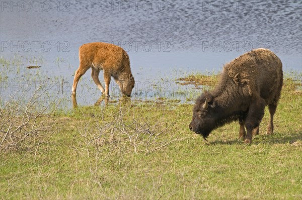
[[[50,114],[41,114],[35,98],[11,102],[0,113],[0,196],[302,199],[302,91],[293,76],[284,78],[274,134],[265,135],[266,109],[252,145],[237,139],[236,122],[204,141],[188,129],[193,105],[169,99]],[[216,80],[188,81],[194,77]]]

